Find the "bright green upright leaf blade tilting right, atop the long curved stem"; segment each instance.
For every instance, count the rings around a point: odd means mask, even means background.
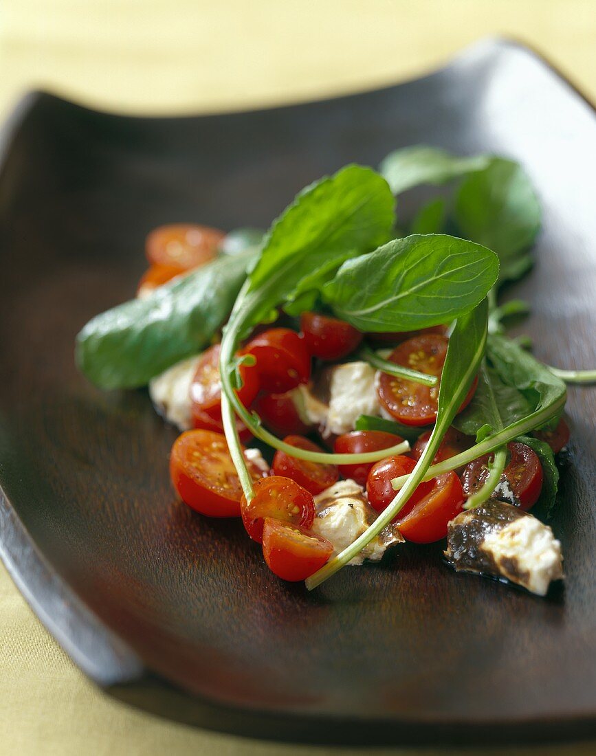
[[[316,268],[324,268],[328,277],[346,255],[386,242],[395,222],[394,205],[386,181],[363,166],[346,166],[301,191],[273,223],[250,273],[247,299],[257,295],[251,320],[297,296],[301,281]]]

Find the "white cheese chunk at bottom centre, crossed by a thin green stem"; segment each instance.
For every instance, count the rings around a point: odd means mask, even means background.
[[[335,554],[352,544],[377,518],[364,488],[353,480],[339,481],[315,496],[315,509],[312,530],[331,541]],[[387,547],[401,541],[397,529],[389,526],[348,564],[362,565],[365,559],[378,562]]]

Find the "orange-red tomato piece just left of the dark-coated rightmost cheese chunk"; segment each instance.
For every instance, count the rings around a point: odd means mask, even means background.
[[[395,520],[402,536],[414,544],[432,544],[445,538],[447,523],[464,504],[464,492],[455,472],[445,472],[427,483],[430,490],[416,501],[411,497]]]

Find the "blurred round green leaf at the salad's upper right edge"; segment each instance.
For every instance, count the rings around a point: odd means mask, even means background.
[[[492,158],[486,169],[464,179],[455,198],[455,222],[462,236],[495,250],[499,280],[519,278],[532,265],[526,250],[539,232],[540,203],[514,160]]]

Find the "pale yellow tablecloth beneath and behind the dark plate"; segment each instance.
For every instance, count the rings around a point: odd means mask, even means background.
[[[594,0],[4,0],[0,114],[33,87],[135,113],[303,100],[418,75],[487,34],[529,42],[596,100]],[[114,702],[79,673],[0,565],[0,754],[166,751],[337,753],[191,730]]]

